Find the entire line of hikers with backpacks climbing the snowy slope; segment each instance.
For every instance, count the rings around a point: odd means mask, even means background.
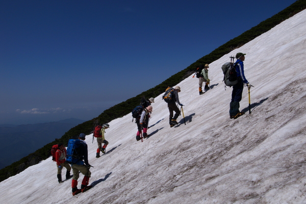
[[[242,99],[242,91],[244,85],[247,86],[248,89],[251,88],[251,85],[246,80],[244,76],[244,65],[243,61],[245,60],[245,55],[243,53],[237,53],[236,59],[237,61],[225,63],[222,66],[222,70],[224,73],[224,83],[226,86],[233,86],[232,91],[232,99],[230,103],[230,118],[238,118],[244,114],[244,112],[239,111],[239,103]],[[234,58],[234,57],[231,57]],[[210,79],[208,78],[208,68],[209,65],[200,65],[196,70],[197,78],[199,78],[199,94],[202,95],[202,84],[205,82],[205,90],[209,90],[210,87]],[[163,95],[163,100],[165,100],[168,104],[169,110],[169,124],[170,127],[178,124],[176,121],[177,118],[181,114],[181,110],[183,109],[183,104],[181,104],[179,99],[179,92],[181,92],[181,87],[175,86],[174,88],[168,87]],[[150,115],[153,111],[151,104],[154,103],[154,98],[149,98],[148,100],[143,97],[141,99],[140,105],[137,106],[132,111],[133,118],[136,119],[137,124],[137,134],[136,140],[142,140],[142,138],[148,137],[147,129],[149,124]],[[181,110],[177,105],[181,106]],[[175,114],[173,115],[173,111]],[[184,114],[183,114],[184,115]],[[134,120],[134,119],[133,119]],[[185,123],[186,124],[186,123]],[[105,154],[106,147],[109,142],[105,139],[105,130],[110,127],[109,124],[96,124],[94,127],[93,138],[96,138],[98,148],[96,150],[96,158],[100,157],[100,152]],[[62,169],[65,167],[66,171],[66,180],[72,177],[72,195],[76,195],[81,192],[85,192],[90,189],[92,186],[88,186],[89,178],[91,176],[90,167],[91,165],[88,163],[88,149],[87,144],[85,142],[86,135],[81,133],[78,139],[70,139],[68,141],[67,150],[63,146],[62,143],[54,145],[52,147],[51,153],[53,156],[53,160],[57,164],[57,177],[58,182],[62,183]],[[102,144],[104,144],[102,146]],[[84,160],[84,161],[83,161]],[[70,167],[71,165],[71,167]],[[70,170],[72,168],[73,175],[70,175]],[[78,179],[79,172],[84,174],[84,178],[82,181],[81,188],[78,189]]]

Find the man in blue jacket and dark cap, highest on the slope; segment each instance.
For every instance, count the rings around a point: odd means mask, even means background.
[[[238,118],[244,114],[244,112],[239,111],[239,102],[241,101],[242,98],[242,91],[243,91],[243,86],[244,84],[247,86],[248,89],[251,88],[251,85],[248,83],[248,81],[245,79],[244,76],[244,66],[243,66],[243,61],[245,59],[246,54],[243,53],[237,53],[236,54],[236,59],[237,61],[235,62],[237,65],[235,66],[235,70],[237,72],[237,78],[238,78],[238,83],[233,86],[233,92],[232,92],[232,100],[230,103],[230,118]]]

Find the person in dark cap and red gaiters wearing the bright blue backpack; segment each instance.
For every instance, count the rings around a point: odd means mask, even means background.
[[[72,195],[76,195],[80,192],[86,191],[87,189],[91,188],[92,186],[88,186],[89,178],[91,175],[90,172],[90,164],[88,163],[88,150],[87,150],[87,144],[85,142],[86,135],[84,133],[81,133],[79,136],[79,140],[81,140],[80,148],[78,156],[80,159],[78,159],[78,162],[73,163],[71,165],[73,177],[72,177]],[[83,161],[84,160],[84,161]],[[84,174],[84,179],[82,181],[81,189],[78,189],[78,179],[79,179],[79,171]]]

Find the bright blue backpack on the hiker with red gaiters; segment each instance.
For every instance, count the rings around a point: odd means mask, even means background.
[[[66,162],[68,164],[76,164],[79,160],[83,160],[82,141],[79,139],[70,139],[68,141]]]

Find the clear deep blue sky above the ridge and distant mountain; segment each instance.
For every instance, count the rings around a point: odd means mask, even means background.
[[[294,2],[1,0],[0,124],[90,120]]]

